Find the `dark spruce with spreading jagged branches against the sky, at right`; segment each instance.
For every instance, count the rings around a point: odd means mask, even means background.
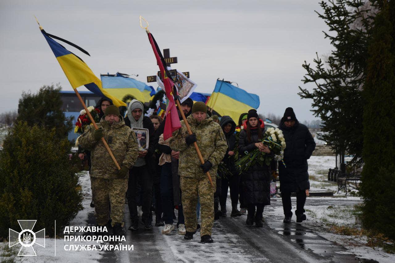
[[[334,49],[322,61],[316,54],[314,67],[306,61],[304,84],[315,88],[301,88],[299,96],[312,99],[312,112],[322,120],[324,140],[337,153],[353,155],[352,163],[362,163],[362,113],[364,99],[367,41],[372,26],[375,6],[363,0],[321,2],[324,13],[318,16],[329,26],[325,38]],[[311,87],[311,86],[308,86]]]

